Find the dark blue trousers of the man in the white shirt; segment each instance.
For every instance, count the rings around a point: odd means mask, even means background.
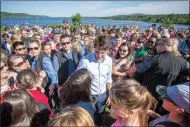
[[[95,112],[95,116],[94,116],[95,124],[97,126],[101,126],[104,111],[106,108],[107,93],[104,92],[104,93],[99,94],[99,95],[91,95],[91,97],[94,100],[94,105],[96,107],[96,112]]]

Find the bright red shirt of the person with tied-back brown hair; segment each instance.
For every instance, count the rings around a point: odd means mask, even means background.
[[[52,112],[49,103],[48,103],[48,98],[45,94],[43,94],[42,92],[40,92],[39,90],[29,90],[29,93],[32,95],[32,97],[34,98],[34,100],[36,102],[42,102],[45,105],[48,106],[49,110],[51,111],[50,117],[54,117],[54,113]]]

